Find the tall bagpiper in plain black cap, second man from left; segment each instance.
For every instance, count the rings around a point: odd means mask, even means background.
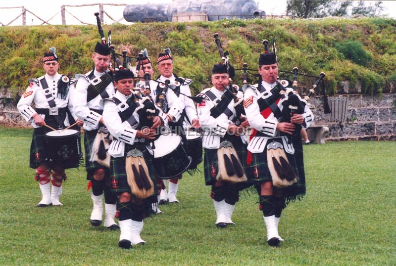
[[[105,219],[103,225],[109,229],[116,230],[119,229],[114,222],[116,197],[111,192],[111,179],[108,168],[109,155],[105,153],[104,146],[104,143],[108,143],[106,141],[108,141],[109,134],[103,124],[103,108],[101,104],[102,99],[111,97],[115,93],[112,78],[106,73],[110,61],[108,45],[97,43],[92,60],[95,64],[94,69],[86,75],[79,75],[73,99],[74,111],[84,121],[85,166],[87,180],[90,180],[90,184],[92,183],[91,198],[94,205],[90,222],[93,226],[101,224],[104,194]],[[103,159],[103,161],[100,161],[101,164],[98,163],[99,159],[95,155]],[[96,160],[93,158],[96,158]]]

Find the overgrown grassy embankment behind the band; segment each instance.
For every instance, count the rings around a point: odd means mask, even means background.
[[[95,17],[92,15],[92,22]],[[362,91],[378,93],[396,83],[396,20],[384,18],[320,20],[222,20],[195,23],[137,23],[104,25],[111,29],[118,52],[123,49],[136,56],[144,47],[156,60],[158,52],[170,47],[175,72],[194,80],[193,93],[206,88],[211,66],[220,60],[213,34],[219,33],[223,48],[230,51],[231,62],[241,68],[257,67],[261,41],[276,39],[280,69],[318,75],[326,72],[327,93],[343,88],[350,81],[353,88],[360,81]],[[68,75],[86,73],[92,67],[90,55],[99,34],[96,26],[1,27],[0,58],[5,71],[0,73],[0,88],[23,90],[28,78],[43,75],[39,63],[50,46],[61,57],[60,72]],[[255,74],[255,72],[252,72]],[[242,73],[237,73],[240,84]],[[291,78],[289,74],[282,76]],[[256,80],[250,75],[250,79]],[[301,88],[314,80],[300,77]]]

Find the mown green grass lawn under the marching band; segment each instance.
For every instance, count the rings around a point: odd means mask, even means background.
[[[0,127],[0,265],[396,265],[396,142],[304,146],[307,194],[282,214],[278,248],[256,195],[218,229],[210,187],[185,174],[181,203],[145,220],[145,246],[123,250],[118,231],[90,225],[84,168],[67,171],[63,207],[35,207],[32,132]]]

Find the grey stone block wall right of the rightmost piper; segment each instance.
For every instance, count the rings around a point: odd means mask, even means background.
[[[396,140],[396,93],[382,95],[343,94],[347,97],[347,113],[343,122],[331,122],[324,113],[323,96],[311,97],[315,125],[329,128],[326,140]]]

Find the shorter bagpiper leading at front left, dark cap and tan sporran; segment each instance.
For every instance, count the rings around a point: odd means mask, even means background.
[[[131,245],[144,244],[140,237],[143,219],[157,202],[154,188],[154,168],[149,141],[154,140],[156,130],[166,123],[166,115],[160,114],[154,103],[148,101],[147,112],[136,104],[133,89],[133,73],[130,70],[115,72],[117,92],[104,102],[103,120],[114,140],[109,146],[112,190],[118,195],[119,224],[121,234],[118,246],[129,249]],[[144,105],[146,108],[146,105]],[[140,109],[140,110],[139,110]],[[139,110],[139,111],[138,111]],[[153,116],[156,113],[160,116]],[[151,126],[143,127],[148,116]],[[132,168],[132,169],[129,169]]]

